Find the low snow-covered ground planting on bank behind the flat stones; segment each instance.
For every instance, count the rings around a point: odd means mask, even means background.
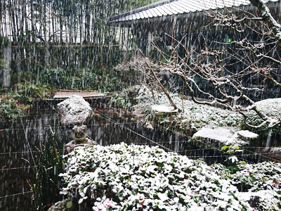
[[[155,108],[171,108],[169,99],[164,93],[155,92],[155,98],[153,98],[151,91],[145,86],[138,86],[136,90],[138,91],[138,97],[136,98],[138,103],[143,105],[144,110],[148,113],[151,113]],[[183,126],[190,124],[191,129],[199,130],[202,127],[239,127],[242,122],[242,115],[230,110],[199,105],[188,100],[182,101],[181,97],[174,93],[170,93],[170,96],[176,106],[182,110],[174,114],[175,122],[181,122]]]

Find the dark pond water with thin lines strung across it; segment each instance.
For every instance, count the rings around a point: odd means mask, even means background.
[[[65,134],[65,140],[72,141],[72,126],[60,127],[55,101],[34,104],[27,117],[14,122],[0,123],[0,210],[32,210],[32,193],[27,179],[32,179],[34,166],[32,152],[44,144],[50,128],[57,128],[58,137]],[[226,155],[209,149],[210,144],[189,141],[182,134],[174,134],[158,127],[147,129],[131,122],[131,114],[122,109],[110,109],[103,103],[89,101],[95,117],[86,122],[86,135],[98,144],[107,146],[114,143],[135,143],[159,145],[165,151],[175,151],[189,158],[204,158],[208,164],[223,162]],[[246,157],[243,157],[246,158]],[[259,162],[256,155],[248,160]],[[30,162],[27,162],[27,160]]]

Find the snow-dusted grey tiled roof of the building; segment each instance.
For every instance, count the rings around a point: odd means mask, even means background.
[[[278,1],[278,0],[264,0]],[[133,11],[121,13],[107,18],[107,23],[119,23],[129,20],[140,20],[145,18],[155,18],[166,15],[178,15],[182,13],[192,13],[215,8],[231,6],[247,6],[251,4],[248,0],[162,0],[148,6],[137,8]]]

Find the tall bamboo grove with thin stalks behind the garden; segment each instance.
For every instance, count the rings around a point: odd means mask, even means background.
[[[133,45],[129,30],[107,17],[151,0],[3,0],[0,3],[0,70],[3,74],[114,65]],[[131,45],[131,46],[130,46]],[[8,72],[8,73],[7,73]],[[1,71],[0,71],[1,73]]]

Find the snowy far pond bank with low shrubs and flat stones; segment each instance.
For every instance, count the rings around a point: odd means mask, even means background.
[[[150,89],[145,86],[129,87],[129,89],[125,89],[121,93],[112,95],[111,103],[121,108],[130,108],[133,115],[135,115],[135,121],[141,122],[144,127],[151,129],[153,127],[162,128],[164,131],[186,136],[189,141],[197,144],[199,148],[220,150],[224,145],[238,145],[245,150],[244,154],[249,155],[249,160],[251,161],[261,162],[261,160],[275,159],[274,156],[261,155],[261,153],[265,153],[269,142],[270,146],[281,146],[281,141],[278,141],[280,140],[278,139],[280,132],[273,133],[270,136],[271,139],[268,139],[268,130],[264,128],[261,131],[251,129],[247,132],[249,128],[245,127],[244,119],[239,113],[199,105],[182,99],[182,96],[178,96],[178,94],[170,93],[169,95],[176,103],[178,110],[174,110],[173,106],[169,106],[170,103],[166,95],[156,91],[152,94]],[[199,139],[190,138],[202,129],[221,129],[221,131],[229,129],[227,134],[222,132],[220,134],[223,139],[229,136],[228,140],[212,139],[211,136],[205,136],[205,132],[204,136]],[[247,135],[242,136],[241,133],[247,133]],[[247,137],[249,134],[251,134],[251,138]],[[257,134],[259,134],[259,138],[256,137]],[[256,157],[257,154],[258,158]],[[276,160],[273,161],[280,162],[278,159],[277,156]]]

